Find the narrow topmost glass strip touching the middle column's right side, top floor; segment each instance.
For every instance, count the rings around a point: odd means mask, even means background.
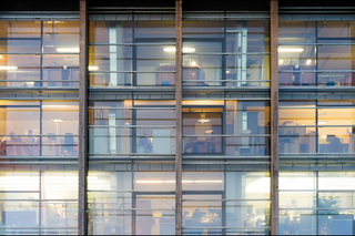
[[[183,21],[183,38],[223,38],[223,21]]]

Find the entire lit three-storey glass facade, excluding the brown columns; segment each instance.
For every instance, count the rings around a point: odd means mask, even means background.
[[[84,227],[175,234],[175,10],[88,2]],[[355,12],[280,6],[278,233],[353,235]],[[270,18],[183,11],[182,234],[271,234]],[[0,234],[78,234],[80,33],[0,12]]]

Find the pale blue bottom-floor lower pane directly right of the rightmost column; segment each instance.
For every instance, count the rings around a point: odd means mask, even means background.
[[[314,211],[280,211],[280,235],[315,235],[316,213]]]

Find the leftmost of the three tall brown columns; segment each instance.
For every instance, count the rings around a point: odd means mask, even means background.
[[[80,0],[79,54],[79,209],[78,234],[88,234],[87,174],[88,174],[88,14],[87,1]]]

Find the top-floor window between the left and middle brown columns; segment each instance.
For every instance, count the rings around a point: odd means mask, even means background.
[[[173,14],[92,14],[90,86],[175,84]]]

